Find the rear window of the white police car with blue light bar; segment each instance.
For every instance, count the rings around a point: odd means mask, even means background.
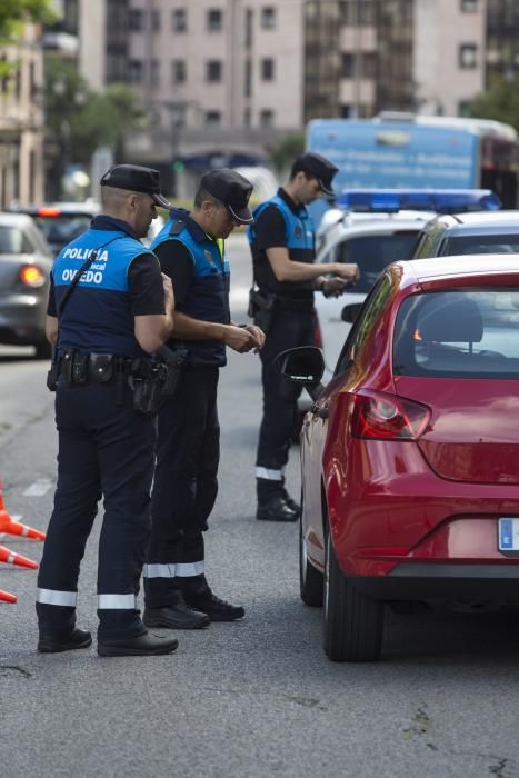
[[[349,238],[338,247],[338,262],[357,262],[360,279],[356,292],[368,292],[380,272],[391,262],[409,259],[417,242],[418,230],[400,230],[390,235]]]

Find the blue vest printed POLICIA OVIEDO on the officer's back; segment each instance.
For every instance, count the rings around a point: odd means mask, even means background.
[[[58,353],[76,348],[142,357],[144,351],[134,336],[128,270],[137,257],[150,251],[123,230],[89,229],[60,251],[52,267],[57,311],[67,287],[93,249],[98,250],[97,259],[83,272],[59,316]]]

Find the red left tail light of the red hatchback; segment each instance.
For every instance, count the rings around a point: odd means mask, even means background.
[[[351,396],[351,435],[375,440],[418,440],[431,418],[427,406],[395,395],[363,391]]]

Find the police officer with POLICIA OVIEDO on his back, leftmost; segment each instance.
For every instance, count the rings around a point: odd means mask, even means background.
[[[98,652],[170,654],[177,640],[149,635],[136,608],[150,532],[156,417],[133,410],[129,380],[172,328],[171,281],[139,240],[157,217],[156,206],[169,203],[158,171],[131,164],[103,176],[101,202],[102,216],[62,249],[51,272],[46,330],[57,346],[59,453],[38,576],[38,650],[92,641],[76,627],[76,601],[80,562],[104,497]]]

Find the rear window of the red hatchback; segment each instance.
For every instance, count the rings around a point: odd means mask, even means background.
[[[519,378],[519,290],[413,295],[395,326],[401,376]]]

